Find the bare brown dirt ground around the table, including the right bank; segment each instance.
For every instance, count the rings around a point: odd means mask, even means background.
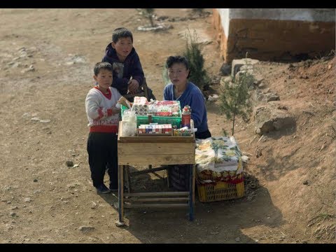
[[[197,200],[193,222],[186,209],[126,209],[127,226],[117,228],[116,196],[92,187],[84,103],[111,31],[133,31],[160,100],[165,59],[183,52],[179,33],[197,29],[211,41],[203,53],[218,94],[223,60],[207,11],[195,18],[191,9],[156,9],[163,20],[155,22],[172,29],[137,31],[146,20],[135,9],[0,10],[0,243],[335,243],[335,57],[255,66],[263,90],[279,94],[273,103],[286,106],[296,125],[260,138],[253,116],[237,119],[235,137],[254,181],[245,197]],[[218,102],[207,109],[214,136],[230,131]],[[148,174],[133,182],[165,186]]]

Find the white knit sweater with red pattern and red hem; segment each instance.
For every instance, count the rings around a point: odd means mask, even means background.
[[[104,94],[93,87],[85,99],[85,111],[90,127],[90,132],[118,132],[119,114],[112,114],[112,109],[120,99],[120,92],[109,87],[109,94]]]

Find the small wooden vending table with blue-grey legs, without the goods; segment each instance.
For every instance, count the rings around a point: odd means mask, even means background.
[[[192,122],[193,125],[193,122]],[[124,208],[188,207],[189,220],[194,218],[195,204],[195,136],[123,137],[118,132],[118,212],[117,226],[123,226]],[[129,165],[190,165],[189,191],[125,193],[124,169]],[[148,169],[153,172],[154,169]],[[125,204],[127,201],[127,204]]]

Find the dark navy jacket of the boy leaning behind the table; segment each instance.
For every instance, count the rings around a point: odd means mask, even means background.
[[[112,65],[114,62],[120,62],[116,49],[112,47],[111,43],[106,46],[105,56],[103,57],[102,62],[109,62]],[[138,80],[139,85],[141,85],[144,80],[144,71],[142,70],[139,55],[134,48],[132,48],[132,51],[126,57],[123,64],[123,78],[118,78],[117,73],[113,71],[113,83],[111,85],[112,87],[116,87],[121,95],[127,94],[127,83],[131,77]]]

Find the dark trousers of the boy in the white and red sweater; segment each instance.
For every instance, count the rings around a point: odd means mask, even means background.
[[[115,133],[90,132],[87,153],[93,186],[104,183],[106,168],[110,176],[110,188],[118,188],[118,141]]]

